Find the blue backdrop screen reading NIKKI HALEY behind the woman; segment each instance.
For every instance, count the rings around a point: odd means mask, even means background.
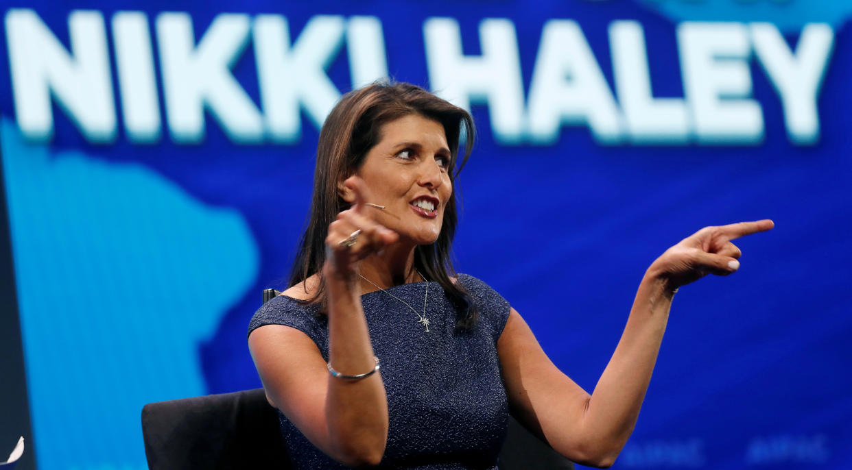
[[[458,270],[594,389],[636,287],[676,295],[618,468],[852,457],[852,2],[29,2],[0,144],[40,468],[144,468],[148,402],[259,387],[246,326],[302,234],[318,129],[381,77],[469,108]]]

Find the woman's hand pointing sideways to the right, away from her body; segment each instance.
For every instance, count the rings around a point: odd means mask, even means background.
[[[768,219],[739,222],[724,226],[705,226],[680,243],[666,249],[648,267],[648,274],[662,279],[671,292],[705,277],[708,273],[727,276],[740,268],[737,261],[742,252],[731,240],[757,232],[766,232],[774,226]]]

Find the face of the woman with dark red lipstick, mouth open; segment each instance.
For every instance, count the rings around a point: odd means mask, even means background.
[[[400,241],[435,243],[452,195],[450,158],[444,127],[437,121],[409,114],[385,123],[357,175],[369,188],[366,202],[386,209],[366,210],[399,233]]]

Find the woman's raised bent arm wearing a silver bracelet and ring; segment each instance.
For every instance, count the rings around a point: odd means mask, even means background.
[[[363,213],[363,185],[350,181],[353,209],[329,226],[329,261],[323,269],[328,295],[329,364],[344,375],[364,374],[376,363],[361,307],[354,263],[393,243],[397,235]],[[360,230],[354,246],[340,241]],[[348,466],[376,465],[388,440],[388,400],[380,371],[359,380],[332,377],[314,341],[283,325],[262,326],[249,347],[267,397],[320,450]]]

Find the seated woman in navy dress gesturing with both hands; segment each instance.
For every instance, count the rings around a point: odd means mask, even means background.
[[[249,335],[296,467],[496,468],[509,411],[563,456],[612,465],[676,289],[736,271],[730,240],[773,225],[707,227],[654,261],[590,395],[508,302],[452,270],[452,184],[473,130],[468,112],[405,83],[355,90],[326,119],[291,287]]]

